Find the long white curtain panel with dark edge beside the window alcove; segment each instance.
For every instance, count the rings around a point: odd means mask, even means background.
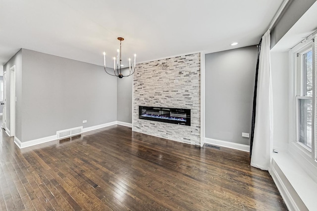
[[[268,170],[273,142],[273,97],[270,69],[270,31],[262,37],[258,53],[254,108],[252,116],[250,155],[251,166]]]

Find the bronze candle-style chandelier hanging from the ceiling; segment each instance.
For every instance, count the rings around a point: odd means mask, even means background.
[[[128,77],[131,76],[134,72],[135,72],[135,60],[136,60],[136,54],[134,54],[134,64],[132,67],[132,71],[131,72],[131,58],[129,58],[129,75],[123,75],[121,73],[121,67],[123,65],[121,65],[121,41],[124,41],[124,38],[118,38],[118,40],[120,41],[120,50],[117,49],[117,58],[115,59],[115,57],[113,57],[113,74],[112,73],[108,73],[106,70],[106,52],[104,52],[104,68],[107,74],[109,74],[110,76],[116,76],[119,77],[120,79],[122,79],[123,77]],[[119,63],[120,61],[120,63]]]

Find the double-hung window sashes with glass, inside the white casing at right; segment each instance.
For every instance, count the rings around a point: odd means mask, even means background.
[[[313,122],[313,48],[308,44],[297,54],[297,142],[312,151]]]

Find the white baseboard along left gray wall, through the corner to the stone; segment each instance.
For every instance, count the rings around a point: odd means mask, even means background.
[[[95,129],[100,129],[100,128],[103,128],[103,127],[109,127],[109,126],[113,126],[113,125],[121,125],[121,126],[126,126],[126,127],[132,127],[131,123],[124,123],[124,122],[114,121],[114,122],[110,122],[110,123],[106,123],[106,124],[101,124],[101,125],[98,125],[98,126],[83,128],[82,132],[88,132],[88,131],[92,131],[92,130],[95,130]],[[71,128],[71,129],[74,129],[74,128]],[[66,130],[70,130],[70,129],[65,129],[65,130],[60,130],[60,131],[66,131]],[[10,136],[9,135],[10,131],[7,128],[5,129],[5,132],[7,133],[8,136]],[[78,133],[76,133],[76,134],[78,134]],[[73,136],[73,135],[76,135],[76,134],[72,134],[72,135],[69,135],[69,136]],[[66,137],[69,137],[69,136],[65,136],[65,137],[62,137],[62,138],[66,138]],[[14,137],[14,143],[20,149],[22,149],[22,148],[26,148],[26,147],[30,147],[30,146],[35,146],[35,145],[38,145],[38,144],[43,144],[43,143],[46,143],[46,142],[49,142],[49,141],[54,141],[54,140],[57,140],[57,139],[58,139],[58,135],[57,134],[56,135],[52,135],[52,136],[48,136],[48,137],[38,138],[38,139],[35,139],[35,140],[25,141],[25,142],[21,142],[17,137]]]

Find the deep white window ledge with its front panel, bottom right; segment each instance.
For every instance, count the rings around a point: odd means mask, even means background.
[[[270,174],[289,210],[316,210],[317,182],[288,154],[273,154]]]

